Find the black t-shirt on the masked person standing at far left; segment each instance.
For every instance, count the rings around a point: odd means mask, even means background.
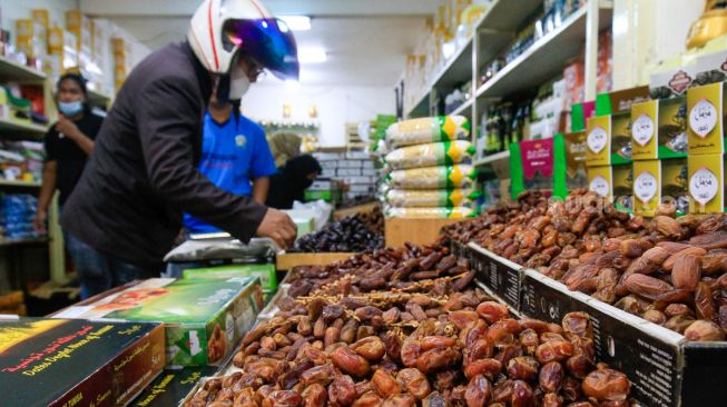
[[[83,117],[73,121],[78,130],[91,140],[96,139],[102,122],[104,118],[91,111],[87,111]],[[87,159],[88,155],[78,147],[76,141],[68,137],[59,137],[56,126],[51,126],[46,133],[46,161],[58,162],[56,188],[59,192],[60,205],[66,202],[78,179],[81,178]]]

